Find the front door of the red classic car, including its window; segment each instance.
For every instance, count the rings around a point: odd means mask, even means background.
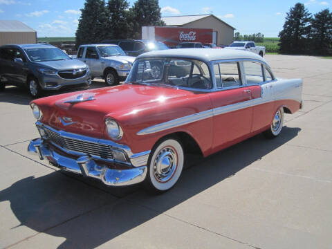
[[[240,67],[240,62],[214,64],[217,91],[210,93],[214,109],[214,151],[232,145],[250,133],[252,95],[242,80]]]

